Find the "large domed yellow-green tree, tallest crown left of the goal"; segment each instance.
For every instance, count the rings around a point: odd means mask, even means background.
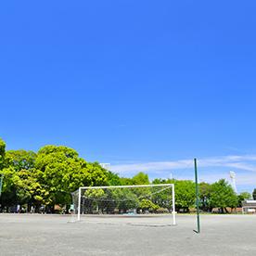
[[[78,158],[70,147],[45,146],[37,153],[35,169],[38,181],[45,189],[41,198],[46,205],[69,204],[70,194],[79,186],[107,185],[107,171],[98,163]]]

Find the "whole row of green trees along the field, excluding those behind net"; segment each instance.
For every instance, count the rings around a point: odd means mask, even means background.
[[[44,205],[54,212],[55,206],[72,203],[71,192],[80,186],[131,186],[149,185],[147,173],[137,173],[132,178],[107,171],[98,162],[87,162],[79,158],[70,147],[45,146],[33,151],[6,150],[0,138],[0,174],[4,173],[0,211],[8,211],[13,205],[24,205],[27,211],[35,211]],[[190,180],[154,179],[151,184],[174,184],[176,211],[189,211],[195,207],[196,186]],[[250,193],[235,195],[224,179],[213,184],[198,184],[199,208],[211,211],[220,208],[237,208],[241,201],[251,198]],[[252,194],[256,198],[256,189]],[[151,205],[142,201],[141,204]]]

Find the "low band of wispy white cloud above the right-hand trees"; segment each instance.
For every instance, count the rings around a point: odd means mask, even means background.
[[[250,191],[256,187],[256,155],[246,156],[221,156],[198,160],[199,182],[214,183],[224,178],[231,181],[228,171],[236,171],[237,190]],[[124,176],[132,176],[135,173],[144,172],[151,178],[168,178],[170,173],[176,173],[173,177],[178,179],[194,179],[193,160],[175,161],[149,161],[129,162],[111,165],[111,170]],[[175,171],[174,171],[175,170]]]

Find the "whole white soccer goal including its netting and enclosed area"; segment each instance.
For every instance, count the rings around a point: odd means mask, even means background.
[[[174,185],[84,186],[72,193],[72,221],[175,224]]]

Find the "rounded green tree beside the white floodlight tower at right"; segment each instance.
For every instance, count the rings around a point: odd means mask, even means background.
[[[211,185],[211,198],[210,198],[212,207],[219,207],[222,209],[222,212],[227,212],[226,208],[237,207],[237,196],[234,194],[232,186],[228,185],[224,179],[219,180]]]

